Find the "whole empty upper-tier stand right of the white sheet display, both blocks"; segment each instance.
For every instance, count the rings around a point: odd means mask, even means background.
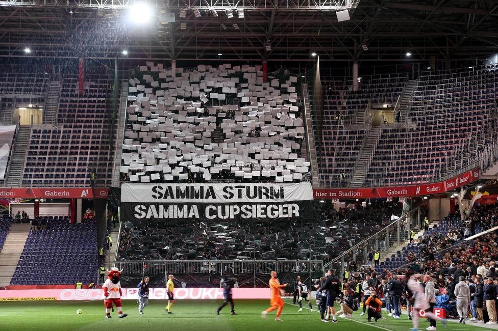
[[[374,154],[365,175],[366,186],[427,183],[464,168],[484,146],[496,140],[495,78],[483,67],[422,72],[407,111],[408,125],[381,126]],[[340,80],[326,81],[320,183],[340,185],[340,171],[351,178],[356,170],[368,127],[363,109],[371,103],[395,103],[406,87],[398,78],[364,77],[358,91],[351,80],[341,89]],[[342,96],[342,100],[341,100]],[[335,114],[340,112],[340,125]],[[360,119],[360,122],[351,120]],[[357,134],[355,134],[357,132]],[[341,139],[339,139],[341,137]]]

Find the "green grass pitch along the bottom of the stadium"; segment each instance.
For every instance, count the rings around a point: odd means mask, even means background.
[[[172,315],[164,311],[166,300],[150,300],[144,314],[138,314],[136,300],[123,300],[123,311],[128,317],[117,318],[117,311],[111,313],[112,319],[105,318],[103,301],[24,301],[0,302],[0,330],[36,330],[36,331],[69,331],[69,330],[116,330],[116,331],[153,331],[153,330],[203,330],[203,331],[289,331],[289,330],[325,330],[351,331],[368,329],[370,331],[408,331],[412,323],[403,315],[401,319],[393,319],[384,313],[386,320],[367,322],[367,317],[359,316],[356,311],[352,319],[338,318],[338,323],[320,321],[318,312],[311,312],[308,305],[303,305],[303,312],[297,312],[298,307],[292,305],[292,299],[285,299],[284,310],[276,322],[276,311],[268,314],[267,319],[261,318],[261,311],[269,307],[269,300],[235,300],[235,312],[230,315],[230,305],[223,308],[220,315],[214,311],[222,300],[177,300],[171,308]],[[287,303],[287,302],[290,302]],[[313,308],[316,302],[311,301]],[[305,308],[306,307],[306,308]],[[77,315],[81,309],[83,314]],[[336,307],[337,309],[337,307]],[[449,321],[448,330],[487,330],[482,324],[469,322],[462,325]],[[486,324],[484,324],[486,325]],[[419,330],[425,331],[429,326],[421,319]],[[437,329],[443,330],[441,323],[436,323]]]

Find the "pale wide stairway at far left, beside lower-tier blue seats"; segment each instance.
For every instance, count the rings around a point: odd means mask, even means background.
[[[21,256],[26,239],[30,234],[31,224],[12,224],[0,253],[0,286],[10,284],[17,262]]]

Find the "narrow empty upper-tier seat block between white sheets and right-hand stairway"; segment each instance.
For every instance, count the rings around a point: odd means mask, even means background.
[[[407,81],[406,73],[364,76],[358,90],[354,91],[351,77],[345,80],[326,78],[322,158],[318,164],[321,184],[339,186],[341,171],[346,178],[353,176],[370,131],[368,123],[364,125],[366,111],[372,105],[394,105]],[[338,113],[340,121],[335,120]]]

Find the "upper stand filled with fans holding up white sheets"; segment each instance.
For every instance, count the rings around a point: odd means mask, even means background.
[[[157,67],[155,67],[157,69]],[[131,182],[309,178],[297,77],[199,66],[130,79],[121,173]]]

